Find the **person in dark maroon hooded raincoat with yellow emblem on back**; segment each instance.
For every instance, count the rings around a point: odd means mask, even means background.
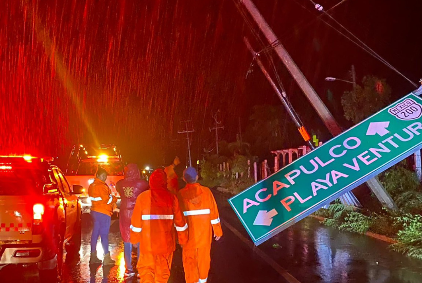
[[[125,168],[125,179],[116,183],[116,189],[120,194],[120,234],[124,242],[124,254],[126,262],[125,276],[134,276],[132,267],[132,244],[130,243],[130,223],[135,207],[136,198],[140,193],[148,189],[148,183],[140,178],[140,172],[136,164],[128,164]],[[138,259],[139,259],[139,246]]]

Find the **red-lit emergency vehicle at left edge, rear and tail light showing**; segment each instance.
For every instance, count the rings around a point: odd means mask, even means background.
[[[63,247],[81,247],[83,188],[69,186],[52,160],[0,156],[0,269],[34,264],[42,282],[60,276]]]

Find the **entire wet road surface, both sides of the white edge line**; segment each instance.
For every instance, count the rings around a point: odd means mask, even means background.
[[[213,243],[210,283],[420,283],[422,261],[389,251],[388,244],[363,235],[339,232],[306,218],[269,241],[254,247],[225,197],[215,192],[223,238]],[[118,220],[112,221],[110,251],[114,267],[89,265],[91,223],[85,219],[82,249],[64,255],[63,283],[137,282],[123,278],[125,262]],[[275,247],[274,247],[275,245]],[[98,257],[102,258],[100,242]],[[135,252],[132,258],[136,266]],[[0,271],[0,282],[40,282],[34,268]],[[173,257],[170,283],[183,283],[181,249]]]

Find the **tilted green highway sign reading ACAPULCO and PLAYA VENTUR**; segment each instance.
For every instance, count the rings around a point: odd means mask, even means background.
[[[419,150],[421,115],[409,94],[228,202],[259,245]]]

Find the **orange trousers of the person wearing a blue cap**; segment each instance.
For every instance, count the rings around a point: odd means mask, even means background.
[[[183,248],[183,269],[186,283],[206,283],[211,257],[211,245],[198,249]]]

